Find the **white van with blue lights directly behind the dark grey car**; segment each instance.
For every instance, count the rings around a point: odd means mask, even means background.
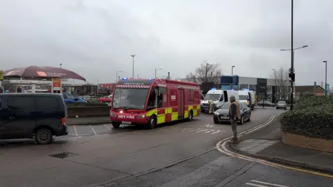
[[[205,95],[205,98],[201,101],[201,112],[204,112],[205,109],[210,109],[209,101],[214,101],[217,108],[219,108],[223,103],[228,102],[230,96],[234,96],[234,98],[239,101],[238,91],[234,90],[223,90],[223,89],[211,89]]]

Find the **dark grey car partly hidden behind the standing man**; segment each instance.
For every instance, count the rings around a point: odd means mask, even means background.
[[[229,107],[231,103],[225,102],[223,105],[214,112],[214,123],[230,122]],[[239,103],[239,109],[241,110],[241,119],[239,124],[244,124],[245,121],[251,121],[251,110],[245,103]]]

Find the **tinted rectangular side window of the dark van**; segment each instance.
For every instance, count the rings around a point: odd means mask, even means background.
[[[7,106],[9,109],[35,109],[35,98],[29,96],[9,96]]]

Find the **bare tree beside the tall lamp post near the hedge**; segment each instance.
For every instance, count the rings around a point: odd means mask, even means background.
[[[289,98],[289,72],[287,69],[280,67],[274,69],[271,74],[271,80],[276,86],[276,96],[278,99],[287,100]]]

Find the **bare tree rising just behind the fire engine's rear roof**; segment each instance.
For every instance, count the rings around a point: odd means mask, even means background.
[[[189,82],[218,82],[222,75],[222,71],[219,64],[207,64],[203,62],[196,68],[196,71],[186,75],[186,79]]]

